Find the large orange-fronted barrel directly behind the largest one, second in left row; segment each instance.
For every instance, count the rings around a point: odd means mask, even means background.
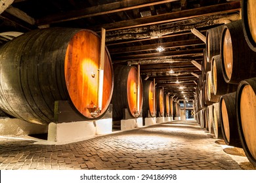
[[[115,65],[114,92],[112,97],[113,120],[122,120],[123,111],[127,108],[132,118],[137,118],[142,110],[143,90],[140,78],[139,108],[137,107],[138,69],[134,66]],[[140,77],[140,76],[139,76]]]

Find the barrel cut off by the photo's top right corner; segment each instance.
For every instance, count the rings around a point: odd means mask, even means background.
[[[254,0],[242,1],[242,22],[244,37],[251,50],[256,52],[256,2]]]

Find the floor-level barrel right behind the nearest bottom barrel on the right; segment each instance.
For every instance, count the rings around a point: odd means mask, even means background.
[[[236,122],[236,92],[221,95],[220,118],[223,139],[227,145],[242,147]]]

